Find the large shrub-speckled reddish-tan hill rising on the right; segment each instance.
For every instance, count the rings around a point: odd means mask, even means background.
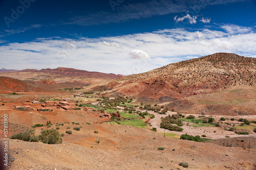
[[[229,53],[216,53],[169,64],[142,74],[126,76],[103,86],[92,86],[92,88],[96,90],[108,89],[112,90],[112,95],[135,96],[141,98],[141,101],[152,103],[175,101],[176,103],[170,104],[169,108],[174,109],[178,108],[179,105],[190,105],[189,108],[178,110],[188,111],[195,107],[193,106],[194,101],[188,99],[189,96],[196,96],[197,98],[203,94],[214,95],[228,88],[235,90],[242,87],[249,90],[248,94],[251,95],[246,97],[247,100],[255,99],[255,84],[255,58]],[[235,96],[231,97],[236,99]],[[243,96],[239,95],[237,99],[241,98],[243,99]],[[204,100],[207,101],[208,98]],[[206,103],[202,107],[207,106]],[[221,109],[219,108],[219,110]],[[230,106],[228,110],[234,112],[236,109]],[[256,114],[254,112],[252,114]],[[200,108],[195,113],[205,113],[205,111],[201,112]]]

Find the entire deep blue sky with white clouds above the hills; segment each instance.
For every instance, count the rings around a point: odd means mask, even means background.
[[[0,68],[130,75],[218,52],[256,57],[256,1],[0,0]]]

